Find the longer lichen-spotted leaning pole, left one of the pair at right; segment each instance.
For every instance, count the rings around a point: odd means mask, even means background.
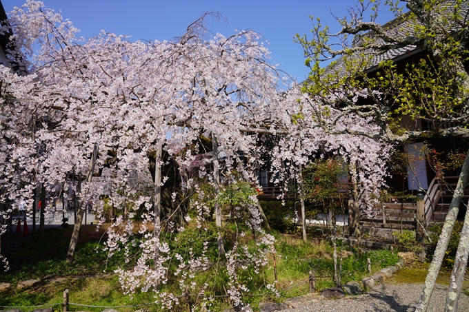
[[[450,242],[452,228],[455,225],[457,214],[459,212],[459,206],[461,205],[461,201],[463,199],[464,189],[466,189],[466,185],[468,182],[468,174],[469,152],[468,154],[466,154],[466,160],[464,160],[464,164],[461,169],[461,174],[459,174],[459,180],[457,181],[455,193],[452,197],[450,209],[448,211],[448,214],[446,215],[445,223],[443,224],[443,229],[441,230],[441,235],[437,243],[437,248],[435,249],[435,253],[433,253],[432,263],[430,263],[430,267],[428,268],[425,286],[423,287],[419,304],[417,305],[417,309],[415,310],[416,312],[425,312],[428,309],[428,302],[430,302],[430,297],[432,296],[433,289],[435,289],[435,282],[437,281],[438,273],[441,268],[441,263],[443,263],[443,258],[445,256],[446,249],[448,248],[448,243]]]

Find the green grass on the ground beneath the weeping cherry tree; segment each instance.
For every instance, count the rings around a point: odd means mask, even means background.
[[[244,229],[246,230],[246,229]],[[226,227],[223,236],[226,240],[226,247],[230,248],[234,240],[236,229],[232,226]],[[172,248],[177,249],[181,254],[187,253],[189,249],[195,254],[200,253],[201,241],[208,239],[216,242],[216,229],[210,228],[201,231],[196,227],[187,227],[186,231],[177,235],[178,243],[175,243],[174,234],[168,235],[165,239],[171,242]],[[246,233],[250,233],[246,231]],[[10,291],[0,293],[0,306],[37,306],[39,304],[58,304],[62,302],[63,290],[69,289],[70,302],[86,304],[92,306],[132,306],[154,302],[151,292],[137,292],[134,295],[123,295],[121,285],[117,275],[106,278],[89,276],[102,274],[104,271],[113,272],[119,264],[123,264],[123,256],[117,254],[113,258],[108,258],[106,253],[99,251],[99,240],[102,236],[97,233],[94,227],[83,227],[81,232],[81,242],[79,242],[75,261],[70,264],[66,262],[66,253],[71,236],[71,229],[51,229],[46,231],[45,239],[39,240],[39,236],[34,234],[26,243],[10,255],[10,271],[0,273],[2,282],[10,282],[13,287]],[[304,244],[297,236],[285,236],[274,233],[277,238],[275,245],[276,261],[272,254],[269,254],[269,264],[263,267],[259,273],[248,268],[239,273],[240,280],[243,280],[250,289],[250,296],[243,298],[253,309],[257,309],[261,301],[281,302],[286,298],[304,295],[309,292],[308,273],[313,269],[317,270],[317,291],[327,287],[335,286],[332,282],[334,275],[332,263],[332,247],[329,243],[318,239],[312,239]],[[248,245],[248,248],[255,247],[255,241],[249,234],[240,238]],[[214,244],[216,246],[216,244]],[[340,251],[340,246],[338,247]],[[349,249],[350,250],[350,249]],[[219,259],[217,253],[209,253],[212,267],[208,271],[199,272],[192,280],[197,284],[207,284],[208,293],[214,295],[226,295],[226,285],[228,284],[228,274],[226,264],[223,259]],[[366,268],[366,258],[370,258],[373,264],[373,271],[382,267],[395,264],[397,256],[390,251],[368,251],[361,257],[357,253],[343,258],[342,261],[342,283],[349,280],[360,280],[368,275]],[[277,268],[277,287],[281,293],[281,298],[275,295],[266,294],[266,284],[275,280],[275,268]],[[356,271],[355,271],[356,270]],[[355,271],[347,274],[347,272]],[[65,277],[66,282],[50,283],[57,277]],[[41,279],[38,287],[17,291],[16,285],[21,280]],[[161,291],[168,293],[181,293],[177,278],[170,277],[168,284],[161,286]],[[295,287],[301,284],[299,287]],[[292,287],[291,289],[289,289]],[[286,290],[284,290],[286,289]],[[197,289],[192,294],[197,293]],[[262,295],[263,294],[263,295]],[[192,297],[192,304],[201,305],[199,298]],[[212,311],[222,311],[228,307],[230,302],[227,298],[217,298],[212,302]],[[185,303],[181,300],[180,306],[174,307],[175,311],[185,308]],[[61,311],[61,305],[52,306],[54,311]],[[132,308],[119,308],[119,311],[134,311],[135,309],[147,309],[149,311],[159,311],[157,304],[139,306]],[[5,309],[5,308],[0,308]],[[25,308],[30,310],[29,308]],[[92,308],[82,306],[70,306],[71,311],[102,311],[103,308]]]

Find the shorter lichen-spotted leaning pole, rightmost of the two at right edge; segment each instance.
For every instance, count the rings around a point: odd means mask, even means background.
[[[459,238],[459,246],[457,247],[455,266],[452,269],[450,279],[450,290],[446,297],[445,311],[457,311],[459,295],[461,295],[461,287],[463,284],[464,273],[466,273],[466,265],[469,256],[469,209],[466,210],[464,217],[464,225]]]

